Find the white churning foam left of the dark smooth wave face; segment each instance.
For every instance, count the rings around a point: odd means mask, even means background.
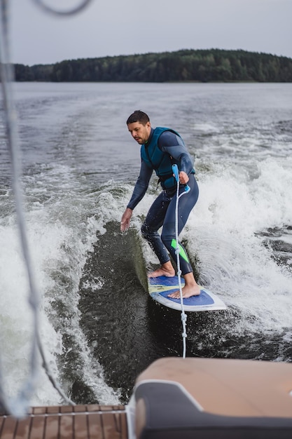
[[[29,194],[33,195],[32,192]],[[81,200],[82,198],[81,194]],[[94,391],[100,403],[115,404],[119,401],[118,393],[106,385],[102,367],[92,358],[79,327],[79,281],[86,252],[96,241],[96,233],[101,226],[94,215],[85,219],[80,206],[76,199],[72,202],[69,194],[64,194],[62,202],[55,194],[53,203],[40,205],[33,202],[32,210],[26,214],[32,268],[41,296],[41,340],[53,376],[59,381],[61,377],[57,356],[64,353],[63,334],[56,332],[50,318],[55,313],[53,302],[61,299],[70,315],[69,327],[64,326],[64,330],[69,330],[74,335],[76,349],[77,346],[80,348],[78,350],[83,361],[82,379]],[[18,230],[13,218],[11,222],[6,219],[5,224],[0,227],[0,245],[0,323],[4,328],[1,330],[1,370],[6,392],[9,396],[16,396],[29,370],[32,315],[27,303],[27,276],[18,242]],[[69,283],[68,297],[64,281]],[[97,288],[98,283],[97,280]],[[62,325],[66,325],[65,320]],[[32,397],[32,405],[59,404],[60,396],[41,369],[41,364],[40,382],[41,385],[37,386],[36,394]]]

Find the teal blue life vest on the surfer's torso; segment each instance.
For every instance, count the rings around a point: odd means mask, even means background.
[[[179,135],[179,133],[176,133],[176,131],[171,128],[155,128],[150,142],[141,145],[141,158],[150,168],[155,170],[156,175],[159,177],[162,189],[172,189],[176,187],[172,165],[179,165],[179,161],[175,160],[172,156],[166,154],[160,149],[160,147],[158,147],[158,139],[165,131],[171,131],[172,133]],[[179,135],[179,137],[181,136]]]

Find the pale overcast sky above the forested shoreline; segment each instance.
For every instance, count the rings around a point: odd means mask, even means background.
[[[83,0],[43,0],[64,8]],[[243,49],[292,58],[292,0],[92,0],[71,17],[11,0],[13,62],[187,49]]]

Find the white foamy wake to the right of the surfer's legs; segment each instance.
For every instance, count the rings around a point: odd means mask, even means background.
[[[256,323],[246,320],[246,325],[267,330],[291,325],[291,273],[258,236],[291,220],[291,158],[287,161],[258,163],[256,180],[222,166],[200,175],[200,198],[185,232],[209,289],[255,316]]]

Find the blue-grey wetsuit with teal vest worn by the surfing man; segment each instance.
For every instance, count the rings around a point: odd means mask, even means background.
[[[188,215],[193,209],[199,195],[195,180],[193,161],[178,133],[170,128],[153,128],[148,142],[141,145],[141,169],[134,187],[134,191],[127,208],[134,209],[146,194],[153,170],[159,177],[163,191],[155,199],[146,216],[141,232],[150,243],[160,264],[170,260],[168,252],[176,261],[176,236],[175,236],[175,205],[176,205],[176,180],[173,177],[172,165],[176,163],[179,172],[184,171],[189,176],[188,186],[190,191],[179,199],[179,234],[186,224]],[[180,185],[180,193],[184,191]],[[161,236],[158,229],[162,227]],[[184,275],[193,271],[186,250],[179,243],[179,259],[181,273]],[[168,252],[167,252],[168,250]]]

